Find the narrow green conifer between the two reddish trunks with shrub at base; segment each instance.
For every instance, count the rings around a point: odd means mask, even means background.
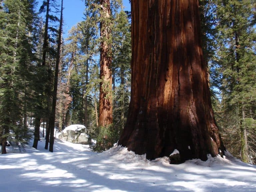
[[[97,140],[94,150],[102,152],[116,143],[122,133],[130,103],[131,89],[131,25],[124,11],[116,13],[112,30],[112,74],[114,106],[113,123],[96,127],[93,137]]]

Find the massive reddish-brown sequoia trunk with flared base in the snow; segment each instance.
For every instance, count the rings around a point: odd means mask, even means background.
[[[210,100],[197,0],[132,0],[132,89],[119,144],[147,159],[225,150]]]

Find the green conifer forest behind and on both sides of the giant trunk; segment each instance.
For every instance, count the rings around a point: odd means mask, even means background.
[[[61,2],[1,0],[0,3],[1,140],[13,138],[25,142],[30,135],[28,125],[34,124],[36,148],[41,122],[50,139],[50,116],[54,112],[54,125],[59,130],[83,124],[98,141],[95,150],[110,148],[124,129],[130,101],[129,9],[124,11],[122,1],[112,0],[111,16],[103,18],[97,0],[79,1],[79,8],[73,1],[73,4],[64,1],[65,9],[73,9],[73,15],[65,15],[63,11],[67,28],[75,20],[74,15],[81,14],[83,18],[62,38]],[[128,0],[125,3],[128,7]],[[205,65],[223,142],[235,157],[256,164],[256,2],[200,0],[199,3]],[[108,41],[112,44],[109,52],[112,87],[111,91],[107,88],[105,91],[106,97],[112,97],[113,121],[107,126],[99,123],[100,83],[107,84],[99,75],[103,20],[110,26]],[[57,91],[55,111],[54,91]]]

